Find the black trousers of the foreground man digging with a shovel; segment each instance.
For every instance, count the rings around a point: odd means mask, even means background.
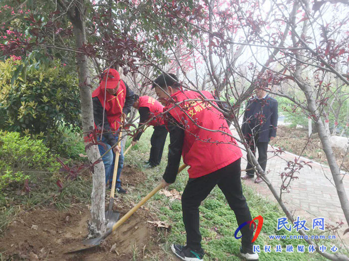
[[[181,198],[188,247],[192,249],[201,248],[199,206],[216,184],[222,190],[230,208],[234,211],[238,226],[252,220],[246,199],[242,194],[240,163],[241,159],[210,174],[189,178]],[[241,229],[241,233],[243,235],[242,245],[245,248],[252,249],[253,230],[246,225]]]

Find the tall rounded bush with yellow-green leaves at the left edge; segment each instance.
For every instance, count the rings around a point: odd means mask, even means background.
[[[80,130],[76,73],[58,60],[48,68],[37,62],[11,82],[21,66],[18,60],[0,61],[0,129],[43,138],[54,148],[62,143],[65,128]]]

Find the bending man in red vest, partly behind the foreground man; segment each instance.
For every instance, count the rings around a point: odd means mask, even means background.
[[[165,127],[163,111],[164,106],[150,96],[139,96],[135,94],[135,101],[133,107],[138,109],[140,113],[139,127],[144,123],[152,119],[148,125],[154,126],[154,132],[150,143],[152,148],[150,149],[149,161],[146,162],[146,168],[154,168],[161,162],[163,156],[165,141],[167,137],[167,129]],[[141,138],[142,130],[138,131],[132,140],[132,145],[135,146],[137,141]]]

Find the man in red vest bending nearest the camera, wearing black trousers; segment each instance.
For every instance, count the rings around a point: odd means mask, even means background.
[[[189,180],[184,188],[181,202],[186,231],[186,245],[172,245],[174,254],[182,260],[202,261],[199,231],[199,205],[215,185],[222,190],[237,224],[251,221],[250,210],[242,194],[240,180],[241,150],[223,117],[212,104],[215,102],[208,91],[183,91],[173,74],[162,74],[153,83],[153,88],[164,111],[170,132],[169,159],[163,175],[164,187],[174,182],[180,157],[188,165]],[[205,100],[204,100],[205,99]],[[241,229],[241,255],[247,260],[257,260],[253,252],[253,226]]]

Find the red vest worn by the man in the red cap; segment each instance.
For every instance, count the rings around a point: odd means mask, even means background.
[[[105,88],[99,86],[92,92],[92,97],[98,97],[107,112],[105,117],[107,117],[110,128],[117,131],[120,126],[120,119],[126,99],[126,86],[124,82],[120,80],[119,89],[115,95],[110,94],[108,91],[105,91]]]

